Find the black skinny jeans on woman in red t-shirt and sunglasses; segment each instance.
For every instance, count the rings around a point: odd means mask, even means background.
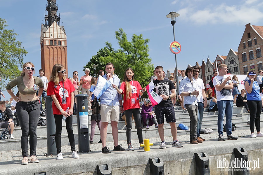
[[[54,114],[55,117],[55,123],[56,123],[56,134],[55,134],[55,141],[56,141],[56,147],[57,147],[57,152],[61,153],[61,133],[62,133],[62,118],[63,115],[57,115]],[[68,132],[68,141],[70,142],[70,148],[71,152],[75,151],[75,137],[73,134],[73,129],[72,129],[72,115],[70,117],[66,118],[66,129]],[[57,153],[57,154],[58,154]]]

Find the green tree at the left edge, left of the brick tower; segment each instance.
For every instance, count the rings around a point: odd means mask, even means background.
[[[20,75],[18,67],[23,65],[23,56],[27,51],[20,41],[16,41],[18,34],[14,30],[6,29],[8,25],[0,18],[0,88],[5,89],[6,81]]]

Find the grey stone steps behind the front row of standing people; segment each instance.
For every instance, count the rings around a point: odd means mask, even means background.
[[[177,126],[180,123],[185,124],[186,126],[189,127],[190,124],[190,118],[188,115],[188,112],[186,110],[181,109],[181,107],[174,107],[175,114],[176,114],[176,123]],[[89,116],[91,115],[91,111],[89,111]],[[202,122],[202,129],[205,128],[211,128],[214,130],[214,132],[217,132],[217,115],[218,112],[209,112],[208,109],[206,108],[204,111],[203,115],[203,122]],[[237,130],[245,130],[249,129],[249,119],[250,115],[247,113],[246,109],[244,107],[236,107],[234,106],[233,108],[233,117],[232,117],[232,123],[236,124],[236,129]],[[14,118],[15,120],[15,118]],[[133,122],[134,123],[134,122]],[[261,120],[261,125],[263,124],[263,120]],[[132,129],[132,134],[131,134],[131,139],[137,139],[137,133],[135,129],[135,125],[133,124],[133,129]],[[126,130],[125,128],[125,122],[124,121],[119,121],[118,123],[118,129],[119,129],[119,140],[126,140]],[[0,132],[4,129],[0,129]],[[107,141],[113,141],[113,137],[111,134],[111,125],[109,122],[108,125],[108,134],[107,134]],[[164,130],[165,130],[165,136],[171,136],[170,132],[170,125],[169,123],[166,123],[166,120],[164,122]],[[142,129],[143,131],[143,138],[153,138],[153,137],[159,137],[158,134],[158,129],[155,128],[155,126],[151,126],[149,129]],[[75,134],[75,142],[76,145],[78,144],[78,137],[77,137],[77,116],[73,116],[73,132]],[[89,122],[89,132],[90,132],[90,122]],[[185,130],[177,130],[178,135],[184,135],[188,134],[189,131]],[[15,139],[6,139],[6,140],[1,140],[1,151],[8,151],[8,150],[20,150],[20,137],[21,137],[21,128],[17,127],[14,129],[13,136]],[[45,148],[47,147],[46,143],[46,126],[38,126],[37,127],[37,148]],[[99,129],[96,126],[95,129],[95,135],[93,138],[94,143],[98,142],[100,140],[100,133]],[[63,122],[63,127],[62,127],[62,134],[61,134],[61,145],[69,145],[68,141],[68,134],[66,131],[66,126],[65,122]]]

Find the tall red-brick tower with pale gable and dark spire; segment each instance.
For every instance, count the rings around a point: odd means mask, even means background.
[[[41,68],[49,80],[55,64],[62,64],[68,70],[67,35],[64,26],[60,27],[60,15],[57,15],[56,0],[47,0],[45,24],[41,25],[40,48]],[[38,70],[37,70],[38,71]]]

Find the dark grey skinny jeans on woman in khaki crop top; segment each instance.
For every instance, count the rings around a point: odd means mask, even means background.
[[[18,101],[16,106],[17,118],[22,130],[21,148],[22,156],[27,157],[28,136],[30,145],[30,156],[36,155],[37,150],[37,122],[40,116],[40,104],[35,101]]]

